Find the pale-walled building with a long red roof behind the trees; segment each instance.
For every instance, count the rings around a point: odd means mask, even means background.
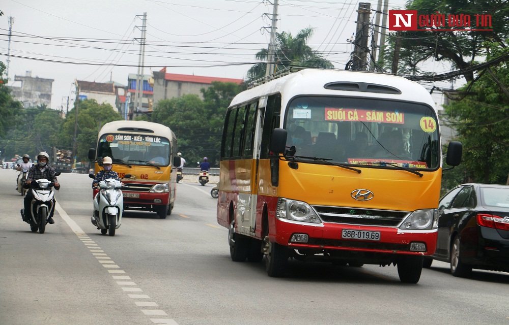
[[[234,82],[241,84],[242,79],[217,78],[204,76],[179,75],[175,73],[166,73],[163,71],[152,72],[154,76],[154,104],[160,100],[181,97],[185,94],[197,94],[203,99],[202,88],[208,88],[212,81]]]

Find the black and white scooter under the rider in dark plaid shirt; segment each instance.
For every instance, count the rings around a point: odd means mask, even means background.
[[[56,172],[55,176],[59,176],[60,172]],[[30,224],[32,232],[39,231],[44,234],[46,231],[46,223],[48,222],[49,211],[53,209],[53,197],[55,195],[51,187],[54,186],[53,182],[47,179],[40,178],[35,180],[37,183],[36,188],[32,188],[34,199],[30,205],[30,220],[25,221]],[[30,187],[30,184],[24,184],[25,187]],[[23,218],[24,209],[21,209],[21,218]]]

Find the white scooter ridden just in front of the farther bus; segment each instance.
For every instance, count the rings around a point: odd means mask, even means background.
[[[89,174],[95,178],[94,174]],[[126,174],[125,178],[130,178]],[[115,236],[115,231],[122,224],[122,213],[124,212],[124,197],[121,187],[128,187],[122,182],[108,178],[99,182],[99,192],[94,198],[94,213],[91,218],[93,225],[101,231],[101,234]]]

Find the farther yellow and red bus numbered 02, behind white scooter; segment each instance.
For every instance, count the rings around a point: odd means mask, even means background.
[[[177,138],[169,127],[146,121],[106,123],[96,148],[89,150],[96,173],[104,157],[111,157],[120,178],[131,174],[123,180],[128,185],[122,188],[124,209],[154,211],[163,219],[172,213],[180,157]]]

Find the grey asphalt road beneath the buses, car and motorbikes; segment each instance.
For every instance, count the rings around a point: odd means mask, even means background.
[[[470,279],[434,262],[418,284],[395,267],[290,263],[285,278],[231,261],[213,184],[181,182],[172,215],[127,211],[115,237],[90,222],[91,180],[63,174],[55,224],[21,221],[17,173],[0,170],[0,324],[509,324],[509,274]]]

